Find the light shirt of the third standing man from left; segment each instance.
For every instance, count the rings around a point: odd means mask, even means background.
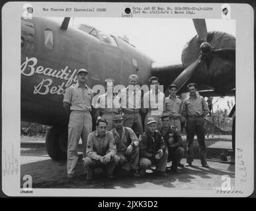
[[[128,87],[123,88],[114,99],[114,106],[122,109],[140,109],[142,107],[142,92],[135,87],[130,90]],[[120,102],[121,101],[121,102]]]

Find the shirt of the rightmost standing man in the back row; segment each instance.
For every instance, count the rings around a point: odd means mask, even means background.
[[[209,109],[206,101],[202,96],[196,96],[195,99],[191,97],[186,98],[183,102],[182,115],[187,116],[202,116],[207,115]]]

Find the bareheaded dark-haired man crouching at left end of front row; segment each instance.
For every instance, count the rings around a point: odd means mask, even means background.
[[[87,169],[87,180],[93,179],[95,167],[104,167],[107,170],[107,177],[113,178],[114,167],[120,160],[116,156],[116,144],[112,133],[107,131],[107,124],[105,119],[98,119],[96,131],[88,135],[87,157],[83,158],[85,169]]]

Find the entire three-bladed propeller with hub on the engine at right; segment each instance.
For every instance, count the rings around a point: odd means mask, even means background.
[[[186,82],[194,75],[198,65],[210,55],[218,55],[224,59],[235,58],[235,48],[223,48],[216,49],[209,42],[207,42],[207,28],[206,22],[204,19],[193,19],[194,28],[200,38],[202,44],[200,44],[200,53],[198,55],[198,59],[192,62],[173,82],[177,86],[177,90],[179,91]]]

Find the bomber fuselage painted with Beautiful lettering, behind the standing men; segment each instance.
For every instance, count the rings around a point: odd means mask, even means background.
[[[120,38],[116,46],[76,28],[62,30],[60,24],[44,18],[23,20],[21,26],[21,120],[45,125],[67,125],[65,88],[74,84],[77,71],[89,71],[90,88],[113,78],[128,83],[139,76],[148,84],[153,60]],[[96,93],[95,93],[96,94]]]

